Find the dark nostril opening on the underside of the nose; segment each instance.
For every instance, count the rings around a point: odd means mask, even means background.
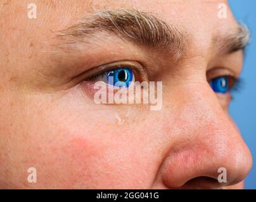
[[[195,177],[186,182],[181,189],[219,189],[225,186],[226,183],[221,183],[212,177]]]

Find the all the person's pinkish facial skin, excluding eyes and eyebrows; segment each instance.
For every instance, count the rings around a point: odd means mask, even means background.
[[[229,9],[217,17],[227,1],[35,1],[36,19],[29,3],[1,1],[1,189],[243,187],[250,151],[228,114],[230,95],[208,84],[238,77],[243,66],[242,50],[222,52],[212,40],[238,27]],[[94,9],[153,13],[181,30],[184,52],[175,60],[107,32],[77,51],[56,48],[56,32]],[[116,61],[139,62],[152,72],[148,80],[163,82],[162,110],[96,105],[87,85],[70,79]],[[36,183],[27,181],[30,167]],[[227,183],[217,181],[220,167]]]

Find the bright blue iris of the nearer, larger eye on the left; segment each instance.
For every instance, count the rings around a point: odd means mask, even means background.
[[[118,87],[129,87],[133,79],[132,70],[128,68],[120,68],[106,72],[106,80],[108,84]]]

